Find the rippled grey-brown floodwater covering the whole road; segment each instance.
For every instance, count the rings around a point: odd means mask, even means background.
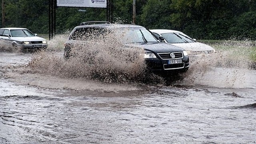
[[[256,70],[192,64],[171,85],[106,82],[47,54],[0,52],[1,144],[256,143]]]

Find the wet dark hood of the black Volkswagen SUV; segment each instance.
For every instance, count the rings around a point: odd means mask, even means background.
[[[140,47],[155,53],[165,53],[165,52],[181,52],[184,51],[183,48],[173,46],[171,44],[166,44],[165,42],[154,42],[154,43],[136,43],[136,44],[126,44],[126,46]]]

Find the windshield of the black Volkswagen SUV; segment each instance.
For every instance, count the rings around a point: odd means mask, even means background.
[[[118,28],[115,33],[122,43],[157,42],[156,38],[146,28]]]

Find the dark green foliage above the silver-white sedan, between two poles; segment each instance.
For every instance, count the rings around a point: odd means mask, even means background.
[[[25,27],[33,32],[48,32],[48,1],[8,0],[5,4],[6,26]]]

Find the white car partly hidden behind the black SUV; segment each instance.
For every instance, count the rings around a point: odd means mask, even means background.
[[[150,31],[158,38],[162,36],[164,38],[164,42],[183,48],[190,55],[210,54],[215,52],[214,48],[211,46],[196,42],[196,39],[192,39],[180,31],[165,29],[154,29]]]

